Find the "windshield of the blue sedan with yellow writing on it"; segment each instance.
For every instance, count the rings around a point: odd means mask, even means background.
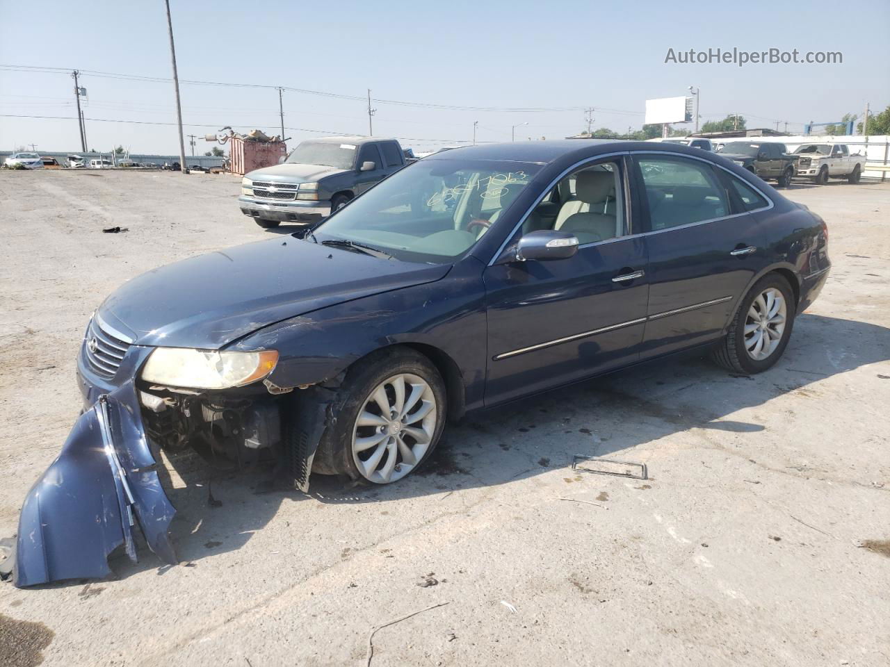
[[[403,261],[447,263],[498,221],[540,169],[522,162],[421,160],[331,215],[314,237],[370,245]]]

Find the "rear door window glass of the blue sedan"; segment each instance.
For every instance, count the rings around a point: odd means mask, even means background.
[[[730,214],[726,190],[707,162],[651,155],[637,157],[636,164],[652,231]]]

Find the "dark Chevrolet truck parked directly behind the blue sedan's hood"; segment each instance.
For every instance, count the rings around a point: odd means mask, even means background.
[[[405,164],[394,139],[303,141],[282,164],[247,173],[238,203],[260,227],[317,221]]]

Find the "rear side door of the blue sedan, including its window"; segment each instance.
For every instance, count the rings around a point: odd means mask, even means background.
[[[765,229],[734,176],[703,160],[642,155],[635,178],[647,203],[649,306],[642,358],[715,339],[740,293],[765,267]],[[763,203],[766,204],[765,200]]]

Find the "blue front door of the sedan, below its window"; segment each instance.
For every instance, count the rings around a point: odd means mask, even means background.
[[[646,263],[645,238],[622,237],[582,246],[568,260],[486,269],[486,405],[639,358],[648,277],[621,283],[612,278],[645,271]]]

